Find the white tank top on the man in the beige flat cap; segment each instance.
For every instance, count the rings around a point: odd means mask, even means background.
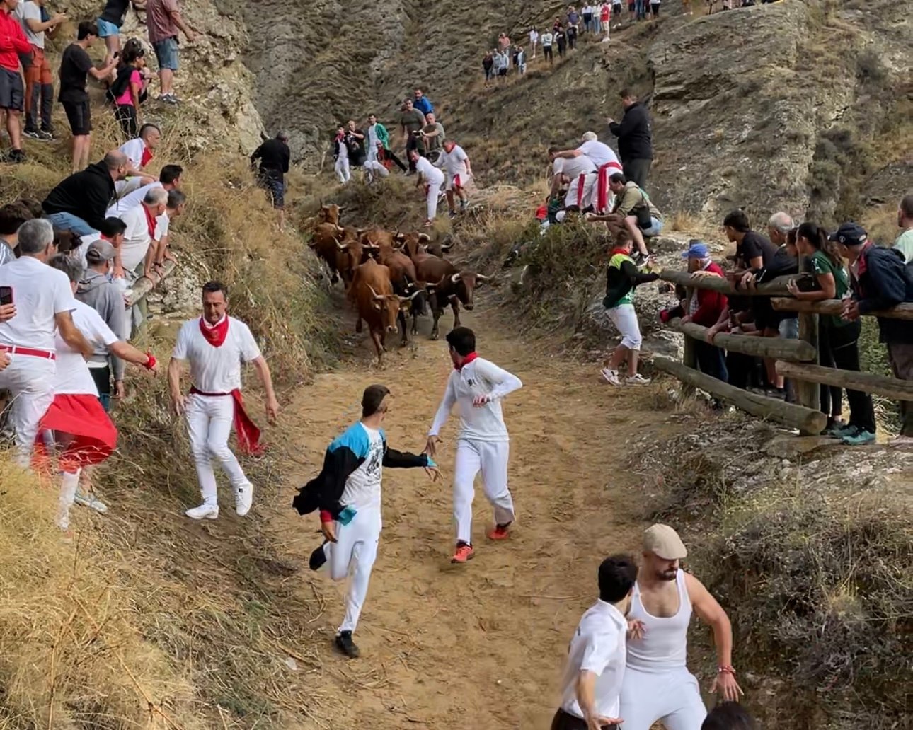
[[[687,660],[687,627],[691,622],[691,600],[687,595],[685,572],[676,574],[678,611],[675,616],[662,619],[646,611],[640,600],[640,588],[635,583],[634,596],[628,620],[644,622],[643,639],[627,642],[627,666],[638,672],[667,672],[685,666]]]

